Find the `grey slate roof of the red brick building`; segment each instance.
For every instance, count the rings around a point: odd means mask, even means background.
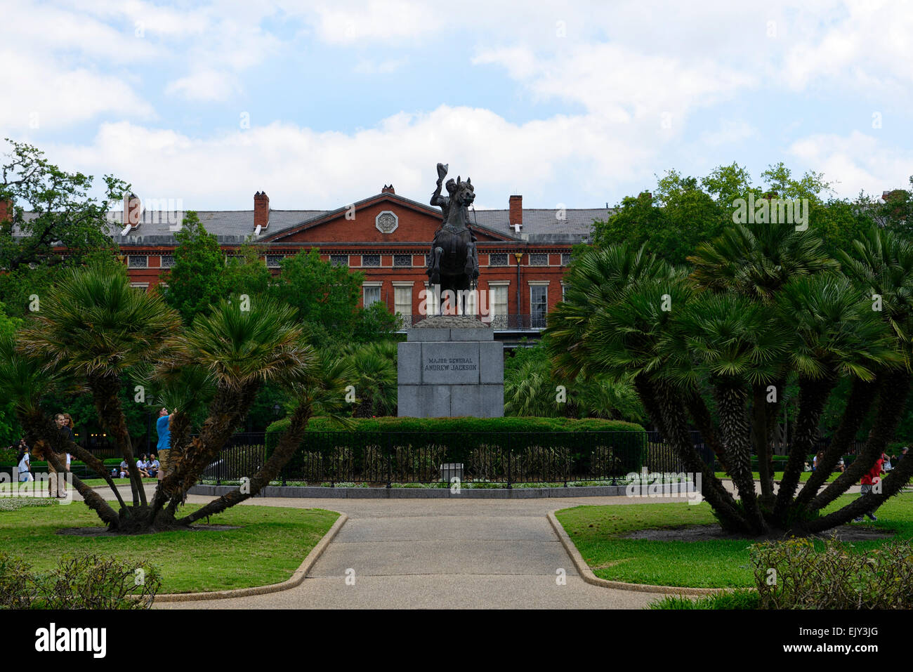
[[[381,195],[381,194],[378,194]],[[394,200],[420,206],[425,210],[436,210],[430,205],[413,201],[400,194],[388,194]],[[364,199],[364,201],[372,200]],[[359,203],[362,203],[360,201]],[[356,204],[358,205],[358,204]],[[262,236],[275,236],[278,232],[306,224],[339,210],[270,210],[269,226],[261,232]],[[509,226],[509,210],[470,210],[469,218],[480,227],[491,229],[502,236],[530,243],[580,243],[583,236],[591,236],[594,219],[605,219],[609,211],[605,208],[567,209],[564,218],[559,219],[557,211],[548,209],[523,209],[523,226],[519,233]],[[117,220],[121,213],[114,213]],[[183,213],[182,213],[183,215]],[[218,242],[224,245],[240,245],[254,234],[253,210],[203,210],[197,211],[200,222]],[[27,219],[34,218],[34,213],[25,213]],[[143,212],[140,226],[129,236],[121,236],[123,225],[115,221],[109,225],[110,236],[121,246],[173,246],[173,221],[169,222],[168,213]],[[172,214],[173,217],[173,214]],[[14,236],[16,233],[14,233]],[[357,242],[357,241],[353,241]]]

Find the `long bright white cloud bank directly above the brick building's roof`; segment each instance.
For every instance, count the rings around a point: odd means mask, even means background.
[[[424,201],[439,161],[472,176],[478,207],[506,207],[518,184],[536,202],[569,178],[596,194],[632,175],[647,179],[654,152],[636,133],[619,132],[593,115],[515,124],[489,110],[448,106],[397,114],[352,133],[277,122],[198,139],[105,123],[89,144],[47,151],[70,169],[115,173],[137,193],[183,198],[200,209],[247,208],[246,194],[257,189],[281,209],[335,207],[390,183],[397,194]]]

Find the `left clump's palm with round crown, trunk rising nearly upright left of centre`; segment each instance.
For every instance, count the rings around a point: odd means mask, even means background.
[[[130,467],[133,506],[145,506],[121,407],[122,377],[155,361],[180,326],[177,313],[155,294],[130,286],[126,268],[76,268],[42,302],[19,333],[22,352],[47,371],[75,375],[91,392],[101,423]]]

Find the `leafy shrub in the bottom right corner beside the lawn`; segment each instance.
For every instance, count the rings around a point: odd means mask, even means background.
[[[820,551],[808,539],[768,541],[752,546],[750,557],[765,609],[913,608],[910,541],[865,553],[835,538]]]

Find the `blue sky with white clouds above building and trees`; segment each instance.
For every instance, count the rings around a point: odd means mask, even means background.
[[[187,209],[426,201],[438,162],[477,208],[733,162],[838,197],[913,174],[905,0],[3,0],[0,63],[0,137]]]

